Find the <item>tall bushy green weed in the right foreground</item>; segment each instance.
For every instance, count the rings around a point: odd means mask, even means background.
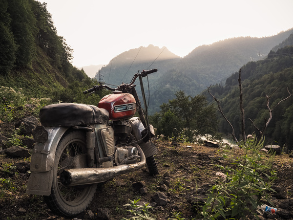
[[[264,140],[257,142],[254,136],[249,136],[246,143],[240,147],[245,154],[230,166],[220,167],[223,172],[217,184],[208,192],[208,199],[203,205],[202,217],[215,219],[247,219],[256,215],[257,206],[269,202],[271,186],[276,173],[271,169],[271,163],[265,162],[261,149]],[[224,160],[227,159],[227,150],[223,149]],[[271,158],[274,154],[271,154]],[[272,161],[269,159],[268,161]],[[270,174],[267,174],[270,171]]]

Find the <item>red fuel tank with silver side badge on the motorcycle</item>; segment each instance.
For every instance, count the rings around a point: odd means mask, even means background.
[[[136,112],[133,95],[120,91],[114,91],[113,94],[104,96],[98,107],[107,110],[112,121],[130,118]]]

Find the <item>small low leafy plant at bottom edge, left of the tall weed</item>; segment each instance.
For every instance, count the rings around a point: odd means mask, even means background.
[[[130,200],[130,203],[127,203],[125,204],[124,206],[130,206],[131,209],[127,210],[131,213],[132,217],[130,219],[126,219],[126,218],[123,218],[123,220],[155,220],[151,217],[149,217],[150,215],[150,212],[148,211],[148,209],[152,208],[151,206],[147,204],[145,205],[138,205],[137,202],[140,200],[140,199],[137,199],[137,200]]]

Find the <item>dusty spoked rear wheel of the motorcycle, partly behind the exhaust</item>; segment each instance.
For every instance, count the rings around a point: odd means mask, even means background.
[[[82,162],[76,162],[82,161]],[[58,143],[53,168],[53,182],[50,196],[44,196],[48,207],[56,214],[73,217],[84,211],[90,204],[97,184],[65,186],[60,174],[68,168],[86,167],[85,134],[82,131],[66,133]]]

